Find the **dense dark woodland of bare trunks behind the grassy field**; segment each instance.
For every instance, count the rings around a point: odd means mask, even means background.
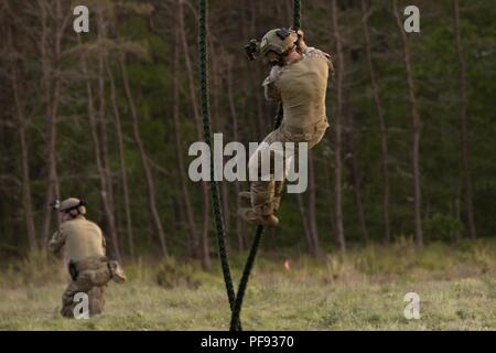
[[[403,31],[420,8],[421,32]],[[90,32],[73,30],[86,4]],[[312,153],[309,190],[284,194],[266,252],[319,257],[368,243],[496,234],[496,3],[483,0],[308,0],[309,45],[336,68],[331,129]],[[260,141],[276,106],[269,67],[244,45],[289,26],[292,1],[209,1],[214,132]],[[192,0],[0,1],[0,254],[43,249],[50,203],[77,196],[111,256],[216,256],[208,185],[187,176],[202,136],[197,4]],[[254,228],[220,182],[230,252]]]

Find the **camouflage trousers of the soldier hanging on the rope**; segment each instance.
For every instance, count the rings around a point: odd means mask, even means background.
[[[263,139],[262,142],[267,143],[260,143],[248,162],[248,169],[251,170],[255,168],[258,171],[259,176],[258,180],[251,182],[250,185],[251,206],[256,214],[268,216],[277,213],[281,203],[281,194],[284,186],[284,179],[288,174],[288,168],[291,163],[298,162],[298,158],[295,158],[299,153],[298,143],[306,142],[309,150],[312,149],[323,139],[328,126],[327,119],[304,129],[290,127],[282,122],[278,129],[270,132]],[[274,142],[281,142],[281,148],[271,148],[269,175],[262,175],[262,173],[260,173],[262,170],[261,159],[259,157],[257,158],[256,154],[263,153],[263,149],[269,148],[268,146]],[[285,142],[295,143],[293,153],[287,150]],[[283,159],[282,178],[280,178],[281,175],[274,178],[276,171],[273,167],[276,164],[274,159],[277,154],[280,154],[279,157]],[[265,179],[268,180],[261,180],[262,176],[266,176]]]

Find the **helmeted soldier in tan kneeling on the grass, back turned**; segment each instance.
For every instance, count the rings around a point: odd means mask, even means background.
[[[105,287],[110,280],[126,280],[119,264],[106,257],[106,242],[101,229],[85,218],[85,203],[71,197],[58,205],[60,228],[48,243],[48,250],[58,255],[65,247],[68,271],[72,277],[62,296],[61,314],[74,318],[75,296],[88,296],[89,315],[98,314],[105,307]]]

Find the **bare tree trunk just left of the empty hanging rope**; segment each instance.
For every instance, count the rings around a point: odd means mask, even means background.
[[[181,43],[184,52],[184,63],[186,65],[187,78],[190,83],[190,96],[193,107],[193,114],[195,117],[196,136],[198,141],[203,140],[200,127],[202,125],[202,119],[200,117],[198,100],[196,98],[195,82],[193,67],[191,64],[190,49],[187,45],[186,33],[184,29],[184,11],[183,11],[183,0],[179,0],[179,28],[181,34]],[[211,270],[212,261],[209,255],[208,246],[208,227],[209,227],[209,196],[208,196],[208,185],[206,182],[202,182],[202,193],[203,193],[203,232],[202,232],[202,266],[205,270]]]

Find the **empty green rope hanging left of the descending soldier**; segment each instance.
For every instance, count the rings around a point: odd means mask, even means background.
[[[207,0],[200,0],[200,84],[201,84],[201,99],[202,99],[202,116],[203,116],[203,135],[205,142],[212,151],[212,131],[211,131],[211,116],[209,116],[209,100],[208,100],[208,52],[207,52]],[[214,156],[211,154],[211,194],[212,205],[215,215],[215,227],[217,231],[218,254],[220,265],[223,268],[224,282],[226,285],[227,297],[233,310],[235,304],[235,291],[233,286],[233,278],[230,277],[229,261],[227,259],[226,248],[226,233],[224,229],[224,216],[220,208],[220,197],[217,182],[214,179]],[[238,321],[237,329],[241,330],[241,323]]]

